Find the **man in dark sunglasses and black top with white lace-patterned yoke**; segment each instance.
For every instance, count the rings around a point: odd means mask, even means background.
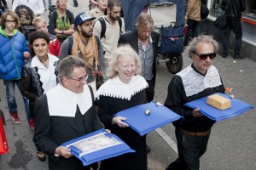
[[[200,157],[207,150],[211,127],[215,123],[200,112],[184,106],[195,99],[223,93],[224,84],[218,70],[212,65],[218,43],[210,36],[195,37],[189,44],[189,57],[193,60],[178,72],[168,87],[166,107],[183,118],[173,122],[177,139],[178,158],[166,170],[198,170]]]

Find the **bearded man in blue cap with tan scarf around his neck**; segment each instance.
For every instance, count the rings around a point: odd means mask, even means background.
[[[103,76],[105,80],[106,64],[103,55],[102,43],[99,38],[92,36],[92,20],[88,13],[80,13],[76,16],[74,24],[77,31],[68,37],[61,46],[60,59],[67,55],[77,56],[86,62],[88,74],[87,83],[96,93],[96,75]]]

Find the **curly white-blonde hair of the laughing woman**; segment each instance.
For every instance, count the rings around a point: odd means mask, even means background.
[[[141,73],[141,60],[140,60],[138,54],[136,53],[136,51],[134,51],[133,48],[131,48],[131,46],[129,44],[125,44],[125,45],[119,46],[115,50],[115,52],[113,54],[113,58],[108,59],[108,61],[109,61],[108,70],[107,70],[108,78],[113,78],[118,75],[118,72],[115,71],[115,68],[118,65],[119,58],[128,57],[128,56],[133,57],[135,60],[136,72],[134,75],[136,76]]]

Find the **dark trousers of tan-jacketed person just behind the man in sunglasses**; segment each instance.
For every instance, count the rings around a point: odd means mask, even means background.
[[[200,34],[200,23],[197,20],[187,20],[187,24],[188,24],[188,32],[185,35],[184,38],[184,45],[187,45],[189,42],[189,37],[190,37],[190,33],[192,32],[192,37],[198,37]]]

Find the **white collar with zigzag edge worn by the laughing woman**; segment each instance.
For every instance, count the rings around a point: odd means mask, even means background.
[[[96,98],[99,99],[103,95],[130,100],[132,95],[137,94],[145,88],[148,88],[148,82],[139,75],[132,77],[129,84],[121,82],[119,77],[116,76],[102,84],[101,88],[96,92]]]

